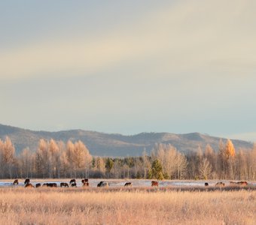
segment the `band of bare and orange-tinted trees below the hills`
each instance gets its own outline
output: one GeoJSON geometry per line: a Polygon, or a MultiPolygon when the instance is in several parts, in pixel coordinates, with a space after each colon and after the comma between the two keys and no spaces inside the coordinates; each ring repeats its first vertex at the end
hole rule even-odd
{"type": "Polygon", "coordinates": [[[156,144],[140,157],[93,157],[81,142],[40,139],[35,152],[16,154],[11,139],[0,139],[0,178],[156,178],[256,180],[256,145],[236,149],[230,139],[218,149],[206,145],[181,154],[156,144]]]}

